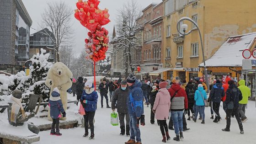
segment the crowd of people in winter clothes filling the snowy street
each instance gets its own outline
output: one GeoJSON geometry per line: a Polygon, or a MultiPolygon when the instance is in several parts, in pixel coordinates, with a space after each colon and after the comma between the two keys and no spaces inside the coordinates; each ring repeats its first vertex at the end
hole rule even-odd
{"type": "MultiPolygon", "coordinates": [[[[242,122],[248,119],[245,116],[245,107],[248,103],[248,97],[251,96],[251,90],[245,86],[245,80],[240,80],[239,85],[237,87],[235,81],[229,77],[225,80],[214,80],[214,84],[210,86],[208,97],[208,87],[204,80],[199,77],[188,82],[186,80],[181,82],[179,77],[173,80],[161,79],[153,82],[152,80],[137,80],[133,74],[130,74],[122,81],[103,79],[98,89],[101,96],[101,108],[103,108],[105,97],[107,108],[111,108],[112,112],[117,109],[120,135],[130,137],[125,144],[141,144],[139,124],[145,124],[144,105],[147,107],[150,105],[150,123],[155,124],[155,119],[157,120],[164,143],[171,139],[168,129],[174,130],[176,134],[173,140],[184,139],[183,131],[189,130],[185,115],[188,116],[188,121],[192,119],[196,123],[199,114],[198,120],[202,120],[201,123],[205,124],[205,107],[208,105],[211,107],[210,118],[214,119],[213,123],[219,123],[222,119],[219,114],[221,101],[226,112],[227,123],[226,128],[222,131],[229,132],[230,118],[236,117],[240,133],[244,134],[242,122]],[[111,107],[108,105],[108,94],[111,107]],[[170,120],[167,125],[168,119],[170,120]]],[[[89,135],[89,123],[91,128],[89,139],[94,139],[93,118],[97,109],[98,95],[94,91],[93,81],[79,77],[75,83],[75,88],[72,85],[72,91],[73,89],[75,89],[77,100],[81,102],[86,113],[84,115],[84,137],[89,135]]],[[[63,112],[62,109],[61,112],[63,112]]]]}

